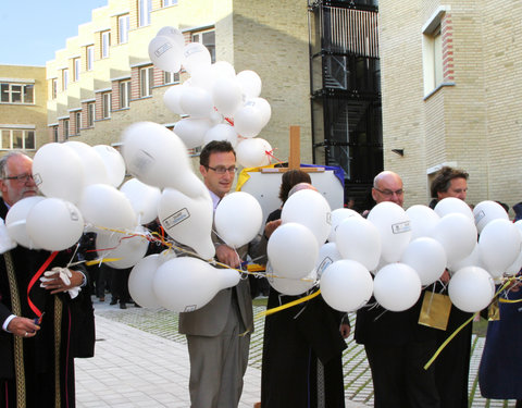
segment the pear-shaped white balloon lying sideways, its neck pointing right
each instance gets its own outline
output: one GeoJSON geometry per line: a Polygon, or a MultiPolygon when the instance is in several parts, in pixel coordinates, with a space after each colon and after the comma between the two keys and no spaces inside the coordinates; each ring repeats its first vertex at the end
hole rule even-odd
{"type": "Polygon", "coordinates": [[[154,274],[152,287],[165,309],[187,312],[200,309],[215,294],[239,283],[239,273],[233,269],[216,269],[191,257],[171,259],[154,274]]]}

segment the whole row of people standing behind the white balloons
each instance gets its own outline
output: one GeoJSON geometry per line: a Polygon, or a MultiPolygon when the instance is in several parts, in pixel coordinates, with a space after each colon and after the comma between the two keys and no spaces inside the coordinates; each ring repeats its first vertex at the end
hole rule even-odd
{"type": "MultiPolygon", "coordinates": [[[[232,145],[206,145],[199,170],[215,210],[234,183],[237,168],[232,145]]],[[[432,183],[431,206],[446,197],[465,200],[468,177],[463,171],[443,168],[432,183]]],[[[279,188],[281,208],[269,215],[262,233],[238,249],[213,234],[216,260],[231,268],[241,268],[248,256],[258,263],[266,262],[266,243],[282,223],[281,209],[301,188],[314,189],[309,174],[300,170],[285,172],[279,188]]],[[[14,152],[0,159],[0,217],[5,219],[15,202],[38,193],[30,158],[14,152]]],[[[390,171],[377,174],[371,195],[375,203],[391,201],[402,207],[401,177],[390,171]]],[[[5,228],[0,228],[1,234],[7,234],[5,228]]],[[[94,356],[91,296],[105,301],[110,293],[111,305],[120,304],[120,308],[133,302],[127,287],[129,269],[112,270],[107,264],[85,268],[78,262],[74,268],[67,267],[75,260],[95,258],[95,234],[85,234],[79,243],[82,250],[60,252],[15,245],[1,248],[0,407],[75,406],[74,358],[94,356]]],[[[355,339],[364,346],[375,407],[468,407],[471,325],[424,369],[443,342],[471,316],[451,306],[445,330],[419,323],[423,297],[431,292],[447,297],[448,280],[446,271],[406,311],[388,311],[374,298],[358,310],[355,339]]],[[[306,295],[314,292],[316,288],[306,295]]],[[[257,293],[244,279],[238,285],[220,290],[204,307],[179,313],[179,332],[187,337],[190,360],[191,407],[238,406],[253,332],[252,295],[257,293]]],[[[268,308],[300,297],[270,288],[268,308]]],[[[518,285],[512,285],[505,297],[519,299],[518,285]]],[[[521,338],[522,325],[515,305],[501,304],[501,319],[489,322],[480,385],[484,396],[518,399],[519,407],[522,384],[518,370],[522,356],[517,341],[521,338]]],[[[344,407],[343,350],[351,329],[346,313],[332,309],[321,295],[268,316],[259,406],[344,407]]]]}

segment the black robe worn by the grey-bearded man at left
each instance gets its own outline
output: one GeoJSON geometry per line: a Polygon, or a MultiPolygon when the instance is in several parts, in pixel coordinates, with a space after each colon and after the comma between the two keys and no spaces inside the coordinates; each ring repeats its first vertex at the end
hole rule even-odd
{"type": "MultiPolygon", "coordinates": [[[[0,217],[5,218],[0,202],[0,217]]],[[[16,394],[15,336],[0,329],[0,407],[15,407],[16,398],[25,398],[27,407],[75,406],[74,357],[92,357],[95,345],[94,309],[88,285],[75,299],[67,293],[50,295],[36,282],[27,296],[30,280],[50,256],[49,251],[29,250],[22,246],[9,251],[12,258],[21,305],[21,316],[36,318],[33,304],[45,312],[36,336],[24,338],[23,368],[25,392],[16,394]],[[59,335],[55,338],[55,331],[59,335]],[[55,353],[58,350],[58,355],[55,353]],[[57,370],[57,361],[58,370],[57,370]],[[58,390],[58,391],[57,391],[58,390]]],[[[65,267],[73,256],[63,250],[46,268],[65,267]]],[[[75,267],[75,269],[83,269],[75,267]]],[[[85,270],[84,270],[85,272],[85,270]]],[[[5,256],[0,257],[0,325],[12,314],[12,294],[8,280],[5,256]]],[[[20,360],[18,360],[18,367],[20,360]]]]}

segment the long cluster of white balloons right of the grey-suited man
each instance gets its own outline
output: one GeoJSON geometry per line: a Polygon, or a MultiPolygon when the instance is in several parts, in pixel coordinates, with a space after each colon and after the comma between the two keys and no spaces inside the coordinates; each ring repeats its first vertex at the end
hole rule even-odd
{"type": "Polygon", "coordinates": [[[406,310],[448,269],[451,301],[474,312],[493,299],[494,279],[522,268],[522,223],[511,223],[495,201],[474,211],[457,198],[434,210],[381,202],[364,219],[344,208],[330,212],[321,194],[302,190],[284,205],[282,220],[269,240],[269,282],[298,295],[319,281],[325,301],[341,311],[372,294],[388,310],[406,310]]]}

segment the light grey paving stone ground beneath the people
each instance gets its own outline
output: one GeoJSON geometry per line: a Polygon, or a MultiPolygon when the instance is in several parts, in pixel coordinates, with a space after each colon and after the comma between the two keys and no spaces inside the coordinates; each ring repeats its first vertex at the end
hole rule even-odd
{"type": "MultiPolygon", "coordinates": [[[[254,307],[254,313],[264,307],[254,307]]],[[[76,399],[90,407],[189,407],[188,351],[177,333],[177,313],[95,300],[96,356],[76,359],[76,399]]],[[[355,321],[355,314],[350,316],[355,321]]],[[[260,400],[264,319],[256,320],[249,368],[240,408],[260,400]]],[[[353,326],[353,325],[352,325],[353,326]]],[[[343,356],[347,408],[373,406],[373,388],[364,348],[352,335],[343,356]]],[[[477,369],[483,337],[473,337],[470,372],[470,407],[514,407],[514,401],[488,400],[480,395],[477,369]]]]}

